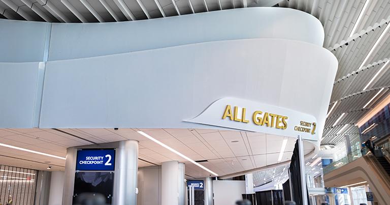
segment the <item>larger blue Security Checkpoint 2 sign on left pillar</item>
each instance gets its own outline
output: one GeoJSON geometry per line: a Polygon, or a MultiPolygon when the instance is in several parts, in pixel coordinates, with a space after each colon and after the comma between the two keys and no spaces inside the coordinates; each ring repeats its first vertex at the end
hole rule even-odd
{"type": "Polygon", "coordinates": [[[78,150],[76,170],[114,171],[115,150],[78,150]]]}

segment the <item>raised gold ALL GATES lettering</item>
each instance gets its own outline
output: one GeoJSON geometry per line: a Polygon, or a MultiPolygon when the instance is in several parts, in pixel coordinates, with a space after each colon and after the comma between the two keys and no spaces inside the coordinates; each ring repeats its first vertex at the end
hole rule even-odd
{"type": "MultiPolygon", "coordinates": [[[[241,110],[241,116],[238,115],[238,106],[234,106],[234,112],[232,112],[232,106],[226,105],[225,111],[223,112],[222,119],[230,119],[232,121],[249,123],[249,120],[246,120],[246,108],[243,107],[241,110]]],[[[258,126],[267,126],[275,127],[276,129],[286,129],[287,128],[287,116],[280,114],[274,114],[269,112],[264,112],[256,110],[252,113],[252,121],[255,125],[258,126]]]]}

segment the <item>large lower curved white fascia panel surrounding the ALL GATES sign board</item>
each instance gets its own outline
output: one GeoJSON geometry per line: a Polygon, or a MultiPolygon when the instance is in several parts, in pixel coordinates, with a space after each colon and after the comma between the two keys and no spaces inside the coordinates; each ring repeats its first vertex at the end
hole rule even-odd
{"type": "Polygon", "coordinates": [[[40,127],[207,128],[183,120],[235,97],[313,115],[320,136],[336,69],[328,50],[278,39],[48,62],[40,127]]]}

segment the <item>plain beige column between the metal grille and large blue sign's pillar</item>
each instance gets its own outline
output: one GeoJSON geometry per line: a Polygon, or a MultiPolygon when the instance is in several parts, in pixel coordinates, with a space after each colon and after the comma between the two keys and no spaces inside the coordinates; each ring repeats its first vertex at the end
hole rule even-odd
{"type": "Polygon", "coordinates": [[[52,171],[50,180],[49,205],[61,205],[65,173],[52,171]]]}

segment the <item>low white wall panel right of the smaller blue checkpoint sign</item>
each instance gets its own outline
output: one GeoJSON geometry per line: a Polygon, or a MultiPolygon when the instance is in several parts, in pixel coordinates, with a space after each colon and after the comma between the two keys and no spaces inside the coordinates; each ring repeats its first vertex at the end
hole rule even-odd
{"type": "Polygon", "coordinates": [[[236,201],[242,200],[245,181],[214,180],[213,189],[215,205],[234,205],[236,201]]]}

